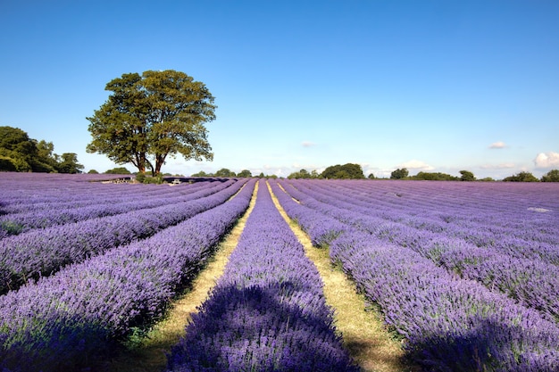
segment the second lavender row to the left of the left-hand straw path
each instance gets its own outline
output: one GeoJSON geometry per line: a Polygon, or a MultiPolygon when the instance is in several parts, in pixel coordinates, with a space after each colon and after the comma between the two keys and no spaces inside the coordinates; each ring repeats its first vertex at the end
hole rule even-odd
{"type": "Polygon", "coordinates": [[[155,199],[163,204],[158,207],[4,237],[0,239],[0,294],[211,209],[238,192],[243,182],[216,182],[197,187],[179,199],[171,198],[175,203],[168,204],[168,196],[163,195],[155,199]]]}

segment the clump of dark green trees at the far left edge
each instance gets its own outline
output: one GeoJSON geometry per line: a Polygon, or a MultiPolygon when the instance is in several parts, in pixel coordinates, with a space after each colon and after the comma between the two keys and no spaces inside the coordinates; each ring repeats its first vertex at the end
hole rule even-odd
{"type": "Polygon", "coordinates": [[[76,153],[54,153],[52,142],[29,138],[20,128],[0,127],[0,171],[81,173],[76,153]]]}

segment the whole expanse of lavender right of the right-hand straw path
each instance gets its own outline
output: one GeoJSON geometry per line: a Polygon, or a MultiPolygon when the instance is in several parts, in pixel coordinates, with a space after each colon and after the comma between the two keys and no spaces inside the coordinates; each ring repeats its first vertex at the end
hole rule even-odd
{"type": "Polygon", "coordinates": [[[426,370],[559,370],[559,187],[280,180],[426,370]]]}

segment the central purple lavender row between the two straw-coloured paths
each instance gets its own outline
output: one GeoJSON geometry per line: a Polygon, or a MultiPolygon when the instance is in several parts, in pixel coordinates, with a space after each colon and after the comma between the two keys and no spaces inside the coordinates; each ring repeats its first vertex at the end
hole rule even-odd
{"type": "Polygon", "coordinates": [[[169,371],[357,371],[332,326],[321,278],[260,181],[254,210],[169,371]]]}

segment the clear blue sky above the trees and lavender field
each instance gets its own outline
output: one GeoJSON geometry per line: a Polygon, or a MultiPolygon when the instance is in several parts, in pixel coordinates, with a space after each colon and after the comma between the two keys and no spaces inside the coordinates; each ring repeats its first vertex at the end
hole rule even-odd
{"type": "Polygon", "coordinates": [[[0,0],[0,126],[104,171],[85,150],[104,86],[171,69],[218,109],[213,161],[163,171],[540,177],[559,169],[557,20],[539,0],[0,0]]]}

